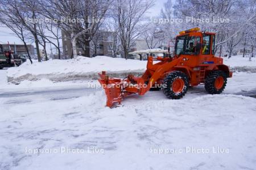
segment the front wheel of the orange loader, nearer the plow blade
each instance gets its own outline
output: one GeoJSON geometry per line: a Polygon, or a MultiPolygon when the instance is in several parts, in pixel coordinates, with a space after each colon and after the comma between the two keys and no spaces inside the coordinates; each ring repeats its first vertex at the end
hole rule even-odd
{"type": "Polygon", "coordinates": [[[188,86],[188,76],[181,71],[173,71],[163,80],[163,93],[169,99],[180,99],[187,93],[188,86]]]}

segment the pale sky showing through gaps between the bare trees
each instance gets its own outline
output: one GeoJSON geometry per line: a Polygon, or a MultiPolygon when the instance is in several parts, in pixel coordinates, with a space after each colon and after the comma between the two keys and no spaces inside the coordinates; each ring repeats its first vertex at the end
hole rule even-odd
{"type": "MultiPolygon", "coordinates": [[[[155,6],[151,8],[149,12],[147,12],[148,16],[158,16],[160,14],[161,8],[163,7],[163,3],[166,2],[166,0],[156,0],[155,6]]],[[[10,44],[23,44],[23,42],[14,35],[13,32],[10,31],[9,28],[6,28],[3,25],[0,25],[0,44],[7,44],[7,41],[10,42],[10,44]]],[[[28,44],[31,44],[31,42],[28,42],[28,44]]],[[[34,45],[34,43],[32,43],[34,45]]],[[[34,45],[35,47],[35,45],[34,45]]],[[[42,48],[40,46],[40,48],[42,48]]],[[[47,46],[47,51],[49,51],[49,45],[47,46]]],[[[53,52],[54,53],[54,52],[53,52]]]]}

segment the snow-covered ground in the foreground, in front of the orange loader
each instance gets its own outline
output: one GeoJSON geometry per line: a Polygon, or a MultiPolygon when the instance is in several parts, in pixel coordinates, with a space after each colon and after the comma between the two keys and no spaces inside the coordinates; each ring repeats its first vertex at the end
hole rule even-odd
{"type": "Polygon", "coordinates": [[[254,169],[256,99],[201,88],[114,109],[101,90],[0,95],[0,169],[254,169]]]}

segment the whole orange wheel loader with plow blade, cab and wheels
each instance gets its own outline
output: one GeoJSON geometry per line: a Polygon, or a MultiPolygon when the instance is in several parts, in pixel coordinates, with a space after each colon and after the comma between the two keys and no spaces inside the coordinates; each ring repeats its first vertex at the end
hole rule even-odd
{"type": "Polygon", "coordinates": [[[232,77],[223,59],[214,57],[215,33],[192,28],[176,36],[174,56],[148,57],[147,69],[141,77],[127,75],[124,79],[109,78],[99,73],[107,97],[106,106],[121,104],[127,95],[144,95],[149,90],[163,90],[169,99],[180,99],[189,86],[204,83],[209,94],[220,94],[232,77]],[[153,61],[158,61],[153,63],[153,61]]]}

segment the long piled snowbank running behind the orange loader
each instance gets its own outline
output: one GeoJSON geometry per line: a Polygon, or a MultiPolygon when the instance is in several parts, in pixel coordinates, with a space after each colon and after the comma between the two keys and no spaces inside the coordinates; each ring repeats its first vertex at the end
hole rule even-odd
{"type": "MultiPolygon", "coordinates": [[[[97,79],[98,72],[108,71],[110,76],[124,77],[127,74],[140,75],[146,69],[147,61],[134,59],[112,58],[97,56],[94,58],[78,57],[77,59],[50,60],[23,63],[19,67],[7,70],[8,82],[19,83],[23,80],[49,79],[56,82],[69,80],[97,79]]],[[[256,59],[233,56],[224,58],[224,63],[232,67],[233,71],[256,72],[256,59]]]]}

